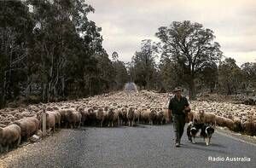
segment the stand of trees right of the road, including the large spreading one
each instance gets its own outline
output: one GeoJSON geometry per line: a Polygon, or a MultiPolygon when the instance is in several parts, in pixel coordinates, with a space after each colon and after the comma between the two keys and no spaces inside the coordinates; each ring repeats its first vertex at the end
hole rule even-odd
{"type": "Polygon", "coordinates": [[[172,91],[179,85],[192,99],[201,91],[256,94],[256,60],[238,67],[234,59],[224,57],[212,30],[187,20],[174,21],[161,26],[155,36],[160,43],[143,40],[129,65],[139,88],[172,91]]]}

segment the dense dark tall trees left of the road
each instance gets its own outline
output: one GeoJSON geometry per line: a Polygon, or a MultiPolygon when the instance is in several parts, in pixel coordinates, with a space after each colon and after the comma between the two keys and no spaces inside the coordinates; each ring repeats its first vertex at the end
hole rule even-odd
{"type": "Polygon", "coordinates": [[[91,12],[84,0],[0,1],[0,108],[122,89],[125,64],[108,58],[91,12]]]}

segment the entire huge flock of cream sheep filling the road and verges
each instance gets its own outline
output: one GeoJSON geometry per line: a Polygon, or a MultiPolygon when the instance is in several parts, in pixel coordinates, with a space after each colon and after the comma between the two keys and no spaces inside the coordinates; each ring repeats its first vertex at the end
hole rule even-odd
{"type": "MultiPolygon", "coordinates": [[[[31,136],[42,137],[42,116],[46,114],[46,129],[93,126],[163,125],[167,120],[170,95],[152,91],[126,92],[93,96],[79,101],[63,101],[30,105],[26,108],[5,108],[0,111],[0,150],[9,151],[31,136]]],[[[192,111],[187,122],[198,119],[204,123],[226,126],[230,130],[253,136],[256,131],[255,107],[219,104],[220,102],[191,101],[192,111]],[[233,109],[233,107],[236,108],[233,109]],[[240,111],[237,111],[240,109],[240,111]]]]}

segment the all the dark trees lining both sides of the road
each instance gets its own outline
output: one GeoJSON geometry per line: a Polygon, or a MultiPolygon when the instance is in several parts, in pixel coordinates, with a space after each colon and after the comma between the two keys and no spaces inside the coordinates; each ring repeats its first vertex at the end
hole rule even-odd
{"type": "Polygon", "coordinates": [[[116,52],[111,61],[92,12],[84,0],[0,1],[0,108],[94,96],[128,80],[163,92],[180,85],[192,99],[256,88],[255,62],[222,59],[212,30],[187,20],[161,26],[160,43],[143,40],[127,65],[116,52]]]}

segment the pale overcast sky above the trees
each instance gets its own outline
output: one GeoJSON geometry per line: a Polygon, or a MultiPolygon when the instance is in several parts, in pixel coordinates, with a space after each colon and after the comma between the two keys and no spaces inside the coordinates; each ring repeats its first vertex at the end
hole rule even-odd
{"type": "Polygon", "coordinates": [[[212,29],[225,56],[238,65],[256,61],[255,0],[87,0],[96,9],[89,19],[102,27],[108,55],[131,61],[143,39],[154,41],[160,26],[190,20],[212,29]]]}

